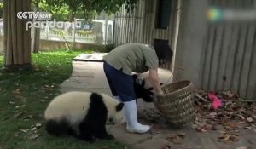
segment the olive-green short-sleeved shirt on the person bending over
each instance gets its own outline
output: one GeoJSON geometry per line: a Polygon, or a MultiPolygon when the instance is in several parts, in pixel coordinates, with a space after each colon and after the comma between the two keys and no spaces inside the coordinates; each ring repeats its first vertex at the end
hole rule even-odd
{"type": "Polygon", "coordinates": [[[143,73],[150,68],[158,68],[158,57],[154,48],[140,43],[121,45],[105,55],[103,60],[128,75],[131,72],[143,73]]]}

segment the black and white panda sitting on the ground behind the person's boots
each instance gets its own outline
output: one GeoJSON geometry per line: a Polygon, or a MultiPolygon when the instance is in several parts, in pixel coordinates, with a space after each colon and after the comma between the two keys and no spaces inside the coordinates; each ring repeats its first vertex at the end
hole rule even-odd
{"type": "Polygon", "coordinates": [[[46,108],[46,131],[50,135],[73,135],[90,142],[95,138],[113,139],[106,131],[106,123],[121,121],[123,106],[109,95],[67,92],[56,96],[46,108]]]}

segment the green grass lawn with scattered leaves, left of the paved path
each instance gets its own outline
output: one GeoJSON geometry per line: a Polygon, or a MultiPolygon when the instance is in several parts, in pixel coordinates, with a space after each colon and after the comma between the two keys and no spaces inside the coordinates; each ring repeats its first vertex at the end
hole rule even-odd
{"type": "Polygon", "coordinates": [[[44,130],[44,109],[49,100],[60,94],[59,84],[70,76],[71,61],[81,53],[32,54],[32,71],[0,72],[0,146],[3,149],[124,148],[114,140],[89,144],[72,137],[54,137],[44,130]]]}

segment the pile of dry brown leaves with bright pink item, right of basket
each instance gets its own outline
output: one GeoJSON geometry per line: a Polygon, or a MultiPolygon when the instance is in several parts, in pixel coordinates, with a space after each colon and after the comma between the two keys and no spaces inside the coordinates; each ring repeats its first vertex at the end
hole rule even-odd
{"type": "Polygon", "coordinates": [[[256,133],[256,102],[243,100],[231,91],[210,93],[197,90],[195,111],[196,119],[192,127],[200,133],[218,131],[221,134],[218,140],[221,142],[238,141],[239,129],[251,129],[256,133]],[[211,99],[210,94],[216,99],[211,99]],[[217,129],[219,125],[223,126],[224,130],[217,129]]]}

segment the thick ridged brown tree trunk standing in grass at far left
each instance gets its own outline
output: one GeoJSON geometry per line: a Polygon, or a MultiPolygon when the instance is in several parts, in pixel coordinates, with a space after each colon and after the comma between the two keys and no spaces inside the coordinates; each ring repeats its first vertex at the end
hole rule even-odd
{"type": "Polygon", "coordinates": [[[3,0],[4,61],[9,70],[31,67],[31,30],[25,20],[17,20],[17,12],[30,11],[31,0],[3,0]]]}

